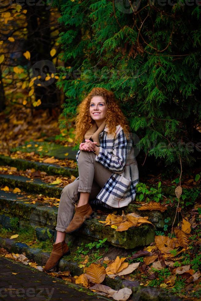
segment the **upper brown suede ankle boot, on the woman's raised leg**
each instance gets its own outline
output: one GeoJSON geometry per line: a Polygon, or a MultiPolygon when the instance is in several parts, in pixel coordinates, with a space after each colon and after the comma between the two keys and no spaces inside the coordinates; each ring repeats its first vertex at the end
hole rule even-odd
{"type": "Polygon", "coordinates": [[[88,204],[77,207],[76,213],[68,225],[68,227],[65,229],[65,233],[73,233],[80,229],[86,219],[89,219],[93,216],[93,210],[91,206],[88,204]]]}

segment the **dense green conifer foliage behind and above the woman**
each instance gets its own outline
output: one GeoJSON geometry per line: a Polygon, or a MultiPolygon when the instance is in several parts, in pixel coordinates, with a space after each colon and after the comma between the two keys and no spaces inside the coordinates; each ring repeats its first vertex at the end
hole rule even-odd
{"type": "Polygon", "coordinates": [[[93,87],[120,100],[138,148],[166,164],[201,151],[201,2],[71,0],[59,6],[64,115],[93,87]],[[65,76],[64,76],[65,75],[65,76]]]}

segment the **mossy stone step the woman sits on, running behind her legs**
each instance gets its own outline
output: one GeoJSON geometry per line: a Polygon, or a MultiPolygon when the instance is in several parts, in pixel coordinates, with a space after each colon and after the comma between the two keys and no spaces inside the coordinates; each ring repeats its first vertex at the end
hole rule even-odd
{"type": "MultiPolygon", "coordinates": [[[[58,208],[56,207],[43,206],[37,202],[35,204],[26,204],[26,200],[20,200],[20,194],[16,195],[11,192],[1,191],[0,209],[0,220],[4,226],[6,222],[7,226],[9,225],[9,219],[12,221],[13,218],[18,217],[19,224],[25,225],[26,222],[28,222],[32,227],[41,228],[41,230],[44,231],[45,228],[48,228],[50,235],[55,235],[58,212],[58,208]]],[[[111,245],[125,249],[148,245],[154,241],[156,229],[154,226],[144,224],[134,229],[117,232],[115,229],[99,223],[99,220],[105,220],[106,216],[107,214],[101,217],[97,216],[95,212],[94,218],[87,220],[85,225],[78,232],[68,234],[67,236],[71,241],[74,240],[76,236],[84,236],[92,240],[107,238],[108,243],[111,245]]],[[[36,231],[38,231],[38,233],[41,232],[40,229],[36,231]]]]}

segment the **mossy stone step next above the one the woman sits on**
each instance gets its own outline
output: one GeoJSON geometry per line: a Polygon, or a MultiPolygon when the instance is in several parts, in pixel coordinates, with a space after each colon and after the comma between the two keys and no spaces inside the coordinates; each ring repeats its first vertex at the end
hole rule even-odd
{"type": "Polygon", "coordinates": [[[12,188],[18,187],[22,191],[30,193],[34,191],[34,193],[54,196],[55,198],[60,198],[63,189],[56,184],[47,184],[38,178],[32,181],[30,178],[15,176],[13,174],[0,174],[0,185],[6,185],[12,188]]]}

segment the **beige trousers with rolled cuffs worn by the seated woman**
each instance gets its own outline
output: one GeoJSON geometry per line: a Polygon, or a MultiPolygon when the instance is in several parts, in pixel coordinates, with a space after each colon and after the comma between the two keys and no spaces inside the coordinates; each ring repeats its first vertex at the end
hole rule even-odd
{"type": "Polygon", "coordinates": [[[80,192],[89,192],[89,200],[96,199],[112,172],[95,160],[96,154],[91,151],[81,151],[78,156],[79,179],[66,185],[61,191],[57,226],[55,230],[65,232],[73,219],[76,202],[80,192]]]}

